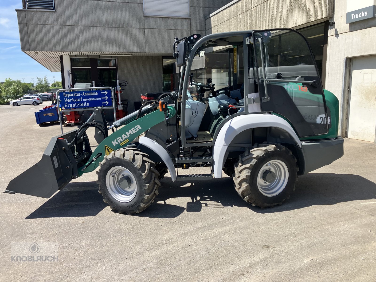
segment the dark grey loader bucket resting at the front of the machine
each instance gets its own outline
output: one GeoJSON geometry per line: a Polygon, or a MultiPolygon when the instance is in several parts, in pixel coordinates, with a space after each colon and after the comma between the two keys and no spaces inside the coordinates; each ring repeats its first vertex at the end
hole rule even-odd
{"type": "Polygon", "coordinates": [[[53,137],[42,159],[11,180],[5,193],[49,198],[76,178],[77,163],[72,152],[73,145],[69,144],[76,131],[77,129],[53,137]]]}

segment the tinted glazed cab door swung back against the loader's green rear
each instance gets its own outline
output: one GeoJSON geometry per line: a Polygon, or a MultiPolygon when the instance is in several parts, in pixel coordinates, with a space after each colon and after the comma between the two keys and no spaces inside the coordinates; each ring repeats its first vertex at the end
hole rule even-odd
{"type": "Polygon", "coordinates": [[[300,137],[326,134],[331,125],[326,123],[320,76],[305,38],[293,30],[264,30],[253,33],[253,42],[249,80],[256,82],[261,97],[268,94],[261,110],[284,116],[300,137]]]}

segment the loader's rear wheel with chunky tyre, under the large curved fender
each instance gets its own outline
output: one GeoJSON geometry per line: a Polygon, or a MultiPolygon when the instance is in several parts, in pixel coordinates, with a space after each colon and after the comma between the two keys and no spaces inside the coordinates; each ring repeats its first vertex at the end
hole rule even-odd
{"type": "Polygon", "coordinates": [[[235,164],[235,190],[246,202],[260,208],[273,207],[295,190],[298,167],[290,150],[279,144],[247,150],[235,164]]]}

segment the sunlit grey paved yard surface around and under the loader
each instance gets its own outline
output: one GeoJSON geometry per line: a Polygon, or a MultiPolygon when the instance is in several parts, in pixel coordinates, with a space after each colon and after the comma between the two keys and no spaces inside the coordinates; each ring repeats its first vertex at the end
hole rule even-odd
{"type": "MultiPolygon", "coordinates": [[[[0,190],[59,134],[35,123],[45,105],[0,107],[0,190]]],[[[110,210],[94,172],[50,199],[0,193],[0,281],[376,281],[375,171],[376,146],[346,139],[343,158],[272,209],[244,202],[230,177],[167,175],[133,216],[110,210]],[[55,244],[58,261],[12,262],[18,242],[55,244]]]]}

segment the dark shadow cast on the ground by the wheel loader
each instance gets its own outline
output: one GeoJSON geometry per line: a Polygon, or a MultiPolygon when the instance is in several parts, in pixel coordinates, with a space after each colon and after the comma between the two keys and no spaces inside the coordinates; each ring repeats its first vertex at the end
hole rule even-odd
{"type": "MultiPolygon", "coordinates": [[[[271,213],[301,209],[314,205],[335,205],[354,200],[371,200],[376,196],[376,184],[354,174],[309,173],[300,176],[289,200],[274,208],[253,207],[239,197],[230,177],[202,180],[197,183],[172,182],[170,177],[161,181],[159,195],[139,217],[174,218],[184,211],[201,212],[206,208],[246,207],[253,212],[271,213]],[[188,184],[188,185],[187,185],[188,184]],[[186,186],[185,186],[186,185],[186,186]],[[186,207],[171,205],[169,199],[188,198],[186,207]]],[[[70,183],[36,209],[29,218],[88,217],[108,207],[92,182],[70,183]]]]}

